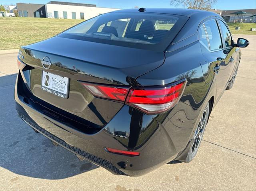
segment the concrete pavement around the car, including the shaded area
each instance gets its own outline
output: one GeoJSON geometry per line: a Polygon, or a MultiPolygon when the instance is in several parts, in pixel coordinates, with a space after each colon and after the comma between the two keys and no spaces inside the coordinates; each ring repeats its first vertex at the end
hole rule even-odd
{"type": "Polygon", "coordinates": [[[213,110],[196,158],[142,177],[116,176],[79,161],[36,134],[16,114],[17,53],[0,54],[0,190],[256,190],[256,35],[234,87],[213,110]]]}

